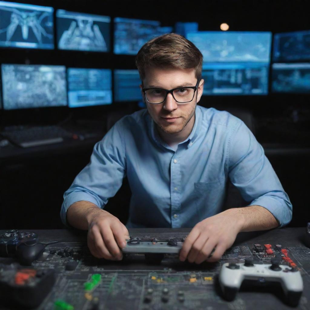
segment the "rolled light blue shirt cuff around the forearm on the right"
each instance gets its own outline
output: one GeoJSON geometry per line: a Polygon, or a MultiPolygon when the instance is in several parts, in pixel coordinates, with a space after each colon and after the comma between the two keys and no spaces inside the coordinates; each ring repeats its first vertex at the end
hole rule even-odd
{"type": "Polygon", "coordinates": [[[292,220],[292,205],[271,196],[261,196],[253,200],[249,206],[261,206],[267,209],[278,221],[279,228],[290,223],[292,220]]]}

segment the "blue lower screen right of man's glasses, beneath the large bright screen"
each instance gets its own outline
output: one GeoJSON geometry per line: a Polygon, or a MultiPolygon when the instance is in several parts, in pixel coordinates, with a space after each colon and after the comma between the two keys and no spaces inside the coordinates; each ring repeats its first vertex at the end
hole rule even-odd
{"type": "Polygon", "coordinates": [[[267,95],[268,68],[257,63],[205,66],[203,95],[267,95]]]}

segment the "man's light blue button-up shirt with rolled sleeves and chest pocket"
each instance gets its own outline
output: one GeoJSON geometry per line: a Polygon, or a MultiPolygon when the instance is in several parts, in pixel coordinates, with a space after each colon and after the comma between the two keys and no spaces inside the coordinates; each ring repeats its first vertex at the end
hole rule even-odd
{"type": "Polygon", "coordinates": [[[64,193],[63,223],[76,201],[104,208],[126,175],[132,192],[127,228],[191,228],[222,211],[228,178],[249,205],[269,210],[280,226],[292,218],[262,146],[226,111],[197,106],[191,134],[174,148],[160,138],[146,109],[123,117],[95,144],[90,163],[64,193]]]}

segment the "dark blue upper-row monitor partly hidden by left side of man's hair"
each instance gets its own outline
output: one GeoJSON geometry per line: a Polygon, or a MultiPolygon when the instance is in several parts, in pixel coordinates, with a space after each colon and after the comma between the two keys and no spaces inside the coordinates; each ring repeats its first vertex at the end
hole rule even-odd
{"type": "Polygon", "coordinates": [[[142,45],[153,37],[172,32],[157,20],[114,18],[114,54],[136,55],[142,45]]]}

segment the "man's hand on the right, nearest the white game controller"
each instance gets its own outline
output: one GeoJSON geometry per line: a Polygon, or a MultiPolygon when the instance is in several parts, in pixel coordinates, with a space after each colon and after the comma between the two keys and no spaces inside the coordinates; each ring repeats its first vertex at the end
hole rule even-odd
{"type": "Polygon", "coordinates": [[[206,218],[193,227],[180,251],[181,261],[188,259],[190,263],[200,264],[203,261],[215,262],[221,258],[242,228],[243,217],[232,214],[230,210],[206,218]]]}

